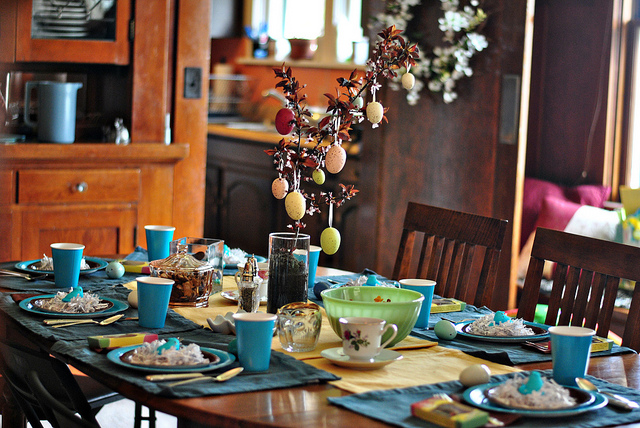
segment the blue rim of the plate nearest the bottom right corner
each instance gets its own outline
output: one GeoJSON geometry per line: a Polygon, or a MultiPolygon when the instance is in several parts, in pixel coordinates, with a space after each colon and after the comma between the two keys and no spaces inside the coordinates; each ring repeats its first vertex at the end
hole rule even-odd
{"type": "MultiPolygon", "coordinates": [[[[498,385],[500,385],[500,383],[485,383],[482,385],[472,386],[471,388],[468,388],[462,394],[462,396],[464,397],[467,403],[484,410],[489,410],[493,412],[503,412],[503,413],[516,413],[523,416],[532,416],[537,418],[560,418],[563,416],[572,416],[580,413],[590,412],[592,410],[597,410],[601,407],[606,406],[609,401],[604,396],[602,396],[597,392],[581,390],[581,392],[585,392],[589,395],[592,395],[595,398],[595,400],[591,404],[578,405],[575,407],[571,407],[569,409],[527,410],[527,409],[519,409],[519,408],[518,409],[509,408],[509,407],[503,407],[503,406],[491,403],[491,401],[489,401],[489,398],[485,395],[486,390],[496,387],[498,385]]],[[[576,389],[571,387],[565,387],[565,388],[576,389]]]]}

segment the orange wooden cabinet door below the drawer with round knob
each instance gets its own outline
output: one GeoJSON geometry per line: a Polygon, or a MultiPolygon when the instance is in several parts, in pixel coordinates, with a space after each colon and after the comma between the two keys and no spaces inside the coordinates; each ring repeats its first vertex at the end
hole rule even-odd
{"type": "Polygon", "coordinates": [[[50,255],[54,242],[85,245],[86,255],[126,254],[134,249],[134,204],[41,205],[22,210],[21,259],[50,255]]]}

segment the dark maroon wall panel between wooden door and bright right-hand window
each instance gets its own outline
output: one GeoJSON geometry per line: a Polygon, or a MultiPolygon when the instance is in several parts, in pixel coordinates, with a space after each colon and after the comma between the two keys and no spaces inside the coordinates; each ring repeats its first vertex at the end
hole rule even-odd
{"type": "Polygon", "coordinates": [[[567,185],[602,181],[615,3],[536,1],[528,176],[567,185]]]}

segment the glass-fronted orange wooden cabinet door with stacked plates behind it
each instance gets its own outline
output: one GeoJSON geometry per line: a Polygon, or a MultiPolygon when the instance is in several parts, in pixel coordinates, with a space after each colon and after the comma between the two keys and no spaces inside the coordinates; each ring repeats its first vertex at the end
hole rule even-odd
{"type": "MultiPolygon", "coordinates": [[[[16,19],[16,61],[118,64],[129,63],[131,2],[115,0],[113,12],[104,16],[89,11],[86,4],[66,2],[58,13],[48,2],[21,0],[16,19]],[[84,8],[85,12],[79,11],[84,8]],[[110,16],[109,14],[114,16],[110,16]],[[100,35],[96,24],[106,25],[100,35]]],[[[97,4],[97,8],[101,3],[97,4]]]]}

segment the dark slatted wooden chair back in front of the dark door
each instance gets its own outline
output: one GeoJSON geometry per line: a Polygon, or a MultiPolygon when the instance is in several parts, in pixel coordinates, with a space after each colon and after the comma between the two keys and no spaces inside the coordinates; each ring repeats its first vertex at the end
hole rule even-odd
{"type": "Polygon", "coordinates": [[[506,220],[409,202],[392,279],[431,279],[439,296],[491,306],[506,230],[506,220]]]}

